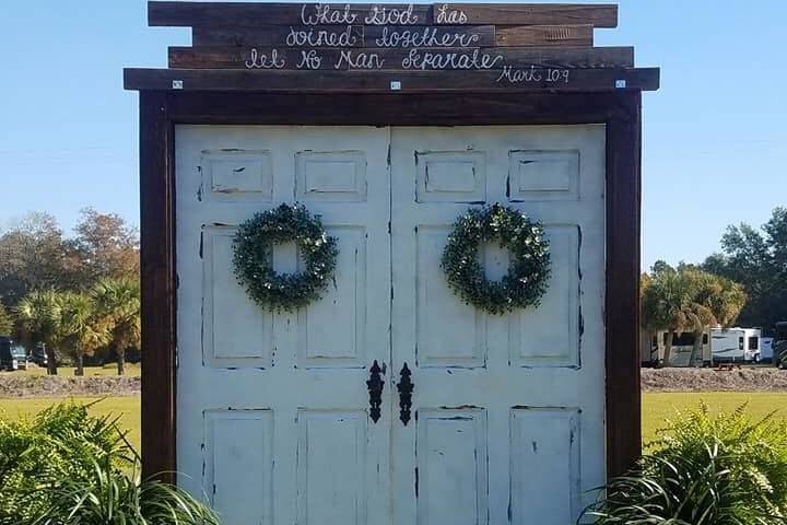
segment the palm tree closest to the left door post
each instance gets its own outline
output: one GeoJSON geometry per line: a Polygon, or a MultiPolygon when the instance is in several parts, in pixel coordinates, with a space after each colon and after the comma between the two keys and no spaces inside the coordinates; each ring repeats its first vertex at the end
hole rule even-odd
{"type": "Polygon", "coordinates": [[[92,296],[109,327],[110,343],[117,353],[118,375],[124,375],[126,350],[140,345],[139,280],[130,277],[102,280],[94,287],[92,296]]]}

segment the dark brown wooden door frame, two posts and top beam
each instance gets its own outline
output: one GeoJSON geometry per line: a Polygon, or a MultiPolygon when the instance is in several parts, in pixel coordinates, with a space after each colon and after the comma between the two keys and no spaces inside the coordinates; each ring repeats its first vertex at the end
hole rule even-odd
{"type": "Polygon", "coordinates": [[[140,92],[142,468],[174,480],[177,272],[175,125],[579,125],[607,127],[608,477],[639,456],[639,91],[537,94],[140,92]]]}

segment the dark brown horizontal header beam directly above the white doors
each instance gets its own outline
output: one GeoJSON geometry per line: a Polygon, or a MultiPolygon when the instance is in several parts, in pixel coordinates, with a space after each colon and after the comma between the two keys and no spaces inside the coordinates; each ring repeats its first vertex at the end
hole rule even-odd
{"type": "Polygon", "coordinates": [[[294,94],[171,93],[168,116],[179,124],[486,126],[603,124],[619,113],[620,92],[294,94]],[[457,112],[457,107],[461,112],[457,112]]]}

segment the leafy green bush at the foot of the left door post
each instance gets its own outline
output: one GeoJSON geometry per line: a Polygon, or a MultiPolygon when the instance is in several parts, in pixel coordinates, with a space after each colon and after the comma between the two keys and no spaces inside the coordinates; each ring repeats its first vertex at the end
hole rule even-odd
{"type": "Polygon", "coordinates": [[[140,479],[139,456],[90,406],[0,418],[0,525],[218,525],[187,492],[140,479]]]}

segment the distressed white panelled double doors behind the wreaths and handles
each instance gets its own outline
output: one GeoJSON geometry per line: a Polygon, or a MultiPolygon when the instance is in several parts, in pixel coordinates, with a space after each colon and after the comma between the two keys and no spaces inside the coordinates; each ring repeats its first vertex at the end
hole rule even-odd
{"type": "MultiPolygon", "coordinates": [[[[603,126],[178,126],[175,139],[180,485],[227,525],[576,520],[604,479],[603,126]],[[280,202],[339,241],[329,290],[293,314],[256,306],[232,266],[236,226],[280,202]],[[484,202],[545,224],[540,307],[490,316],[447,289],[450,225],[484,202]]],[[[505,273],[506,252],[481,256],[505,273]]],[[[273,259],[298,270],[294,245],[273,259]]]]}

